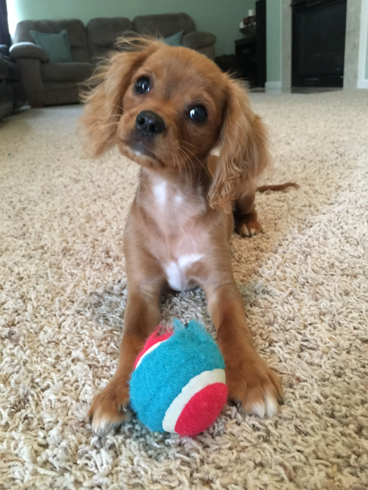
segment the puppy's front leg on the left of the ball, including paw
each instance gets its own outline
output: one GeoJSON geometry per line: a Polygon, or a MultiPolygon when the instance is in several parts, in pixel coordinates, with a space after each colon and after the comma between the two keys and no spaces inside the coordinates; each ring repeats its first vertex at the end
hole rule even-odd
{"type": "Polygon", "coordinates": [[[107,386],[94,397],[88,413],[92,430],[99,436],[130,417],[128,381],[137,354],[160,321],[160,290],[158,279],[129,285],[118,368],[107,386]]]}

